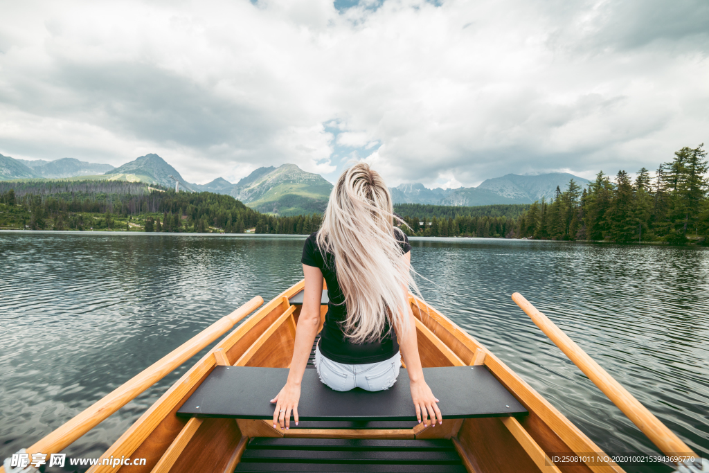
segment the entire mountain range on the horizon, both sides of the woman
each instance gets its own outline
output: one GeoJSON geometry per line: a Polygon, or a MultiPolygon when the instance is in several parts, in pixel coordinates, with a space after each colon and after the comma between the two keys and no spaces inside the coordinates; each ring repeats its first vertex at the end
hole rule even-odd
{"type": "MultiPolygon", "coordinates": [[[[186,191],[210,191],[228,194],[257,211],[283,216],[322,212],[327,206],[330,184],[319,174],[305,172],[296,165],[259,167],[236,184],[222,177],[208,184],[193,184],[177,172],[162,157],[148,154],[120,167],[99,165],[62,158],[55,161],[15,160],[0,155],[0,180],[6,179],[109,179],[148,182],[163,187],[174,186],[186,191]],[[104,174],[99,174],[103,172],[104,174]]],[[[588,185],[582,177],[564,172],[521,176],[507,174],[487,179],[478,187],[458,189],[428,189],[423,184],[401,184],[391,188],[395,204],[432,204],[446,206],[481,206],[493,204],[531,204],[545,198],[554,199],[557,186],[562,191],[574,179],[581,187],[588,185]]]]}

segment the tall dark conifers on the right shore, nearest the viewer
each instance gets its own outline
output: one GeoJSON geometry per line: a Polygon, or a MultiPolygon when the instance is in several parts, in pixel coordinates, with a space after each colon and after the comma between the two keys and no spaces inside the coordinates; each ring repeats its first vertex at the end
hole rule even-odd
{"type": "MultiPolygon", "coordinates": [[[[709,165],[703,144],[682,148],[650,179],[644,167],[635,181],[621,170],[613,182],[599,172],[588,189],[573,180],[557,187],[552,202],[537,202],[518,219],[515,236],[548,240],[688,242],[709,233],[709,165]]],[[[706,241],[706,240],[705,240],[706,241]]]]}

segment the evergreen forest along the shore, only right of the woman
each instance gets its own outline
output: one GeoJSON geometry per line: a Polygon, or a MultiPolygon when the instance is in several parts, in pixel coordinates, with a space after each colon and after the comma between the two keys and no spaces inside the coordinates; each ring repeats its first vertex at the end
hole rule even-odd
{"type": "Polygon", "coordinates": [[[586,189],[572,179],[564,191],[557,187],[552,201],[537,201],[518,215],[502,208],[499,216],[463,208],[452,214],[455,207],[437,211],[435,206],[411,206],[411,213],[400,215],[413,230],[406,229],[410,235],[706,244],[706,156],[703,145],[682,148],[653,179],[644,167],[634,180],[623,170],[614,179],[599,172],[586,189]]]}

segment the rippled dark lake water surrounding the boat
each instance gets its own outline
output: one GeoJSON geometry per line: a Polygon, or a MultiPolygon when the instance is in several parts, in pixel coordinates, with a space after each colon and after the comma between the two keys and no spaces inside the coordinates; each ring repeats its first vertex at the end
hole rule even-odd
{"type": "MultiPolygon", "coordinates": [[[[303,240],[0,232],[0,458],[50,433],[253,296],[269,300],[297,282],[303,240]]],[[[511,301],[513,292],[546,313],[696,452],[709,455],[709,250],[463,238],[411,244],[426,301],[603,450],[654,448],[511,301]]],[[[101,455],[194,361],[67,454],[101,455]]]]}

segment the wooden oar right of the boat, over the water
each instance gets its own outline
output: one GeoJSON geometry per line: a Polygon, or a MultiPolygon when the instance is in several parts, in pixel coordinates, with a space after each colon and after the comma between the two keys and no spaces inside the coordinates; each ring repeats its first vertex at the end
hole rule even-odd
{"type": "Polygon", "coordinates": [[[574,340],[566,336],[566,333],[557,325],[554,325],[547,316],[538,311],[535,306],[532,306],[530,301],[527,301],[522,294],[515,292],[515,294],[512,294],[512,300],[525,311],[527,316],[532,318],[537,327],[542,329],[542,332],[557,347],[561,348],[562,352],[586,374],[588,379],[591,379],[593,384],[596,384],[598,389],[601,389],[603,394],[608,396],[608,399],[613,401],[613,404],[618,406],[620,411],[630,418],[637,425],[637,428],[647,435],[647,438],[652,440],[652,443],[657,445],[661,452],[668,456],[679,455],[699,458],[686,443],[680,440],[664,423],[661,423],[645,406],[640,404],[640,401],[635,399],[605,369],[593,361],[584,350],[581,350],[581,347],[576,345],[574,340]]]}

